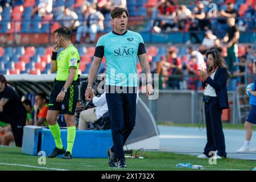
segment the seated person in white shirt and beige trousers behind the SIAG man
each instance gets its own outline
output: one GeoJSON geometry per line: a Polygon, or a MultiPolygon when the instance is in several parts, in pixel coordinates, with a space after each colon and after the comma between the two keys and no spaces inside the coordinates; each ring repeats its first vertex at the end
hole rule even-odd
{"type": "Polygon", "coordinates": [[[93,94],[92,102],[96,107],[86,109],[80,113],[79,130],[86,130],[89,122],[94,123],[108,111],[105,92],[102,93],[100,97],[96,97],[95,94],[93,94]]]}

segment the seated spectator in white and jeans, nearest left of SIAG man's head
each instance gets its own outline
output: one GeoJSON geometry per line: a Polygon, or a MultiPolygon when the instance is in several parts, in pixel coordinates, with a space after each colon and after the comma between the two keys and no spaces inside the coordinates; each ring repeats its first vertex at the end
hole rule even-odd
{"type": "Polygon", "coordinates": [[[104,30],[104,16],[100,11],[96,10],[95,5],[88,6],[85,14],[85,22],[82,26],[77,28],[76,43],[80,43],[81,36],[85,36],[88,32],[90,35],[90,43],[94,43],[98,31],[104,30]]]}

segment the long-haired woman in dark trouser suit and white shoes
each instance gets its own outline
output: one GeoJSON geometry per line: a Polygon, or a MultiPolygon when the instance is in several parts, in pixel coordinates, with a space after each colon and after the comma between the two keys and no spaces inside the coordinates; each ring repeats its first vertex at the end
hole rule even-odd
{"type": "Polygon", "coordinates": [[[220,53],[213,49],[207,51],[208,71],[201,71],[204,90],[204,109],[207,125],[207,144],[204,153],[197,158],[209,158],[210,151],[217,154],[214,158],[226,158],[225,138],[222,131],[221,115],[222,109],[228,108],[228,92],[226,82],[230,77],[228,68],[225,65],[220,53]]]}

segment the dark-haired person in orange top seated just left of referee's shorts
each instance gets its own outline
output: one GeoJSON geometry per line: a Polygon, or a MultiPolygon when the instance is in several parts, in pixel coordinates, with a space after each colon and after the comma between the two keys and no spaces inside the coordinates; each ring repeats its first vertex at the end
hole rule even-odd
{"type": "Polygon", "coordinates": [[[46,115],[48,111],[47,98],[44,93],[37,93],[34,105],[34,122],[36,126],[48,126],[46,115]]]}

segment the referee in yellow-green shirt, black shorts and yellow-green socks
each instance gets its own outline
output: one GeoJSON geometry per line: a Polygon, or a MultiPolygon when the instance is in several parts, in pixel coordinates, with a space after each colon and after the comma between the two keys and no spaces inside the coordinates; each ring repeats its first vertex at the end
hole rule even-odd
{"type": "Polygon", "coordinates": [[[49,97],[47,122],[52,136],[55,139],[56,147],[48,158],[55,158],[64,154],[63,159],[72,159],[72,148],[76,137],[76,126],[74,114],[76,102],[79,97],[77,84],[79,69],[79,53],[71,43],[71,30],[67,27],[60,27],[54,31],[55,45],[53,46],[51,73],[56,74],[55,85],[49,97]],[[57,51],[63,47],[63,51],[57,57],[57,51]],[[68,145],[65,151],[60,137],[60,127],[56,122],[57,116],[64,114],[68,130],[68,145]]]}

